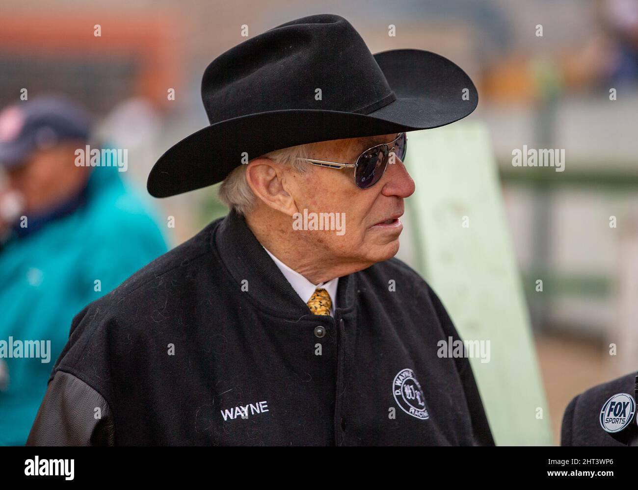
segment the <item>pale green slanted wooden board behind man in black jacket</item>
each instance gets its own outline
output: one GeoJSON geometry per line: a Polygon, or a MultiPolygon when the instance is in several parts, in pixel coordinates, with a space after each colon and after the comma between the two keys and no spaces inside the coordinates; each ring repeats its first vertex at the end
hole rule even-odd
{"type": "Polygon", "coordinates": [[[408,140],[406,166],[417,186],[406,200],[415,267],[461,338],[490,341],[489,362],[470,362],[494,440],[553,445],[489,133],[463,121],[408,140]]]}

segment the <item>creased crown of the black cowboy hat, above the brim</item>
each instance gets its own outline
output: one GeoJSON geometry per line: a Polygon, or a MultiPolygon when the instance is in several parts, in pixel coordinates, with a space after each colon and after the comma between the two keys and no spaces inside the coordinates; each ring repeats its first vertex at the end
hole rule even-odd
{"type": "Polygon", "coordinates": [[[394,100],[366,43],[338,15],[304,17],[246,40],[202,78],[211,124],[282,108],[368,114],[394,100]]]}

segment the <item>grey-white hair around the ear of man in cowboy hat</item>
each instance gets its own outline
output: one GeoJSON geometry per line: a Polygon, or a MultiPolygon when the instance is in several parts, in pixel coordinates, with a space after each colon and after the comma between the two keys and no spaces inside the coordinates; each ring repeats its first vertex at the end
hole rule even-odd
{"type": "MultiPolygon", "coordinates": [[[[310,163],[297,160],[297,158],[309,158],[311,145],[312,144],[291,146],[281,150],[271,151],[259,158],[269,158],[281,165],[288,165],[297,172],[306,172],[310,163]]],[[[239,167],[228,174],[226,179],[221,182],[217,196],[222,204],[231,210],[239,212],[239,214],[246,214],[255,209],[256,197],[248,185],[248,181],[246,181],[246,165],[247,164],[239,165],[239,167]]]]}

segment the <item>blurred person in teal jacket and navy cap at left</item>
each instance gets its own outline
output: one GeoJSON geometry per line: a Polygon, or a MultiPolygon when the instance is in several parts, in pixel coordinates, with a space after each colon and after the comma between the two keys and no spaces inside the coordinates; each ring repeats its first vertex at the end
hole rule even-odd
{"type": "Polygon", "coordinates": [[[77,164],[92,123],[60,96],[0,112],[3,445],[26,442],[75,313],[167,251],[121,167],[77,164]]]}

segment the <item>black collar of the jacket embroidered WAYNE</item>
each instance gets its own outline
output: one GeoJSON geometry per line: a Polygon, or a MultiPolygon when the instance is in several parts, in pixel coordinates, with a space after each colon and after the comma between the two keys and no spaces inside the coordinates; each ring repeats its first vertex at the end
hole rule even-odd
{"type": "MultiPolygon", "coordinates": [[[[214,231],[212,241],[226,272],[239,288],[248,286],[242,294],[251,297],[261,309],[295,320],[316,317],[256,239],[241,214],[235,211],[228,213],[214,231]]],[[[335,315],[351,311],[355,297],[354,274],[339,278],[337,295],[339,308],[335,315]]]]}

